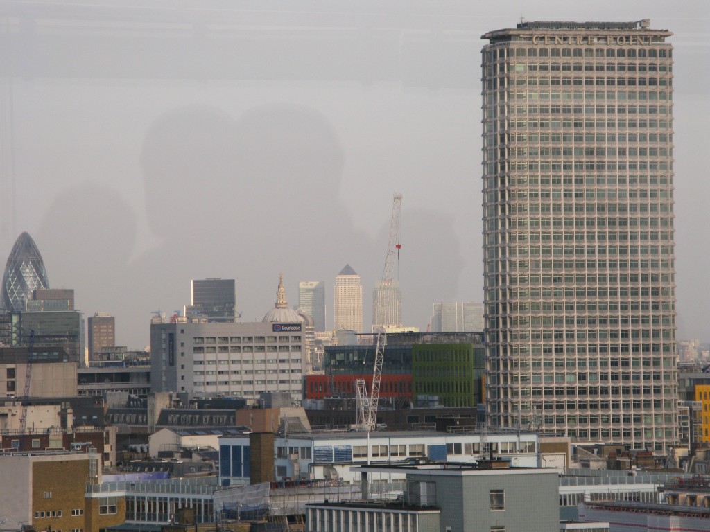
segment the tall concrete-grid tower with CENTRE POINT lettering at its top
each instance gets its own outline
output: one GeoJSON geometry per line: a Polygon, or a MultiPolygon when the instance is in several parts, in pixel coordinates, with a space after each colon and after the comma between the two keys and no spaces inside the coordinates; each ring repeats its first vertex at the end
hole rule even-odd
{"type": "Polygon", "coordinates": [[[493,425],[676,440],[671,35],[640,21],[483,36],[493,425]]]}

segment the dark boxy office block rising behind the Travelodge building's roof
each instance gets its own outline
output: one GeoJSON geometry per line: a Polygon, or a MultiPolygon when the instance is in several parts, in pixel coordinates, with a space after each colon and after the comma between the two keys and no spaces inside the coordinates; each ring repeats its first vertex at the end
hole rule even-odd
{"type": "Polygon", "coordinates": [[[236,321],[234,279],[192,279],[192,301],[185,306],[185,316],[216,323],[236,321]]]}

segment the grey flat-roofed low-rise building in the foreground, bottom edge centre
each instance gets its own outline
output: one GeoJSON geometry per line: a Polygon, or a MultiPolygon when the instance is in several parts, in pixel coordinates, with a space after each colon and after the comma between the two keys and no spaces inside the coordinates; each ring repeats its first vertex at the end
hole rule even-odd
{"type": "Polygon", "coordinates": [[[307,504],[308,531],[542,532],[559,528],[554,470],[510,467],[502,461],[364,465],[354,470],[361,473],[361,500],[307,504]],[[405,482],[399,490],[378,489],[377,479],[385,477],[405,477],[405,482]]]}

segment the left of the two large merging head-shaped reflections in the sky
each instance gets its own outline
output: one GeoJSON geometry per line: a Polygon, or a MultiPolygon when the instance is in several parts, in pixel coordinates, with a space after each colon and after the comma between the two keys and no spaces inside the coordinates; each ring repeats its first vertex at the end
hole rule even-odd
{"type": "Polygon", "coordinates": [[[165,113],[148,129],[141,162],[155,233],[226,221],[236,175],[234,125],[219,109],[189,106],[165,113]]]}

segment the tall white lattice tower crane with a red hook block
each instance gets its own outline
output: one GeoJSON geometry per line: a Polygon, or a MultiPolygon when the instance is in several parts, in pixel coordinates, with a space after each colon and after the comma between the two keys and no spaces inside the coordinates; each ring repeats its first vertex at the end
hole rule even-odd
{"type": "MultiPolygon", "coordinates": [[[[392,261],[397,255],[397,279],[399,281],[399,250],[402,245],[399,242],[400,236],[400,211],[402,209],[402,196],[395,194],[392,205],[392,218],[390,221],[390,238],[387,246],[387,257],[385,259],[385,268],[382,272],[382,282],[380,288],[390,287],[393,285],[391,276],[392,261]]],[[[397,287],[399,288],[399,287],[397,287]]],[[[378,290],[375,290],[377,296],[378,290]]],[[[401,300],[399,300],[401,301],[401,300]]],[[[377,305],[377,301],[375,301],[377,305]]],[[[398,321],[401,321],[401,308],[398,312],[398,321]]],[[[386,323],[393,325],[393,323],[386,323]]],[[[373,330],[375,323],[373,323],[373,330]]],[[[382,364],[385,358],[385,346],[387,345],[387,335],[382,328],[377,331],[377,345],[375,348],[375,362],[372,369],[372,384],[370,394],[367,394],[366,382],[364,379],[357,379],[355,389],[357,392],[357,407],[358,407],[358,424],[367,432],[372,432],[377,427],[377,406],[380,400],[380,384],[382,381],[382,364]]]]}

